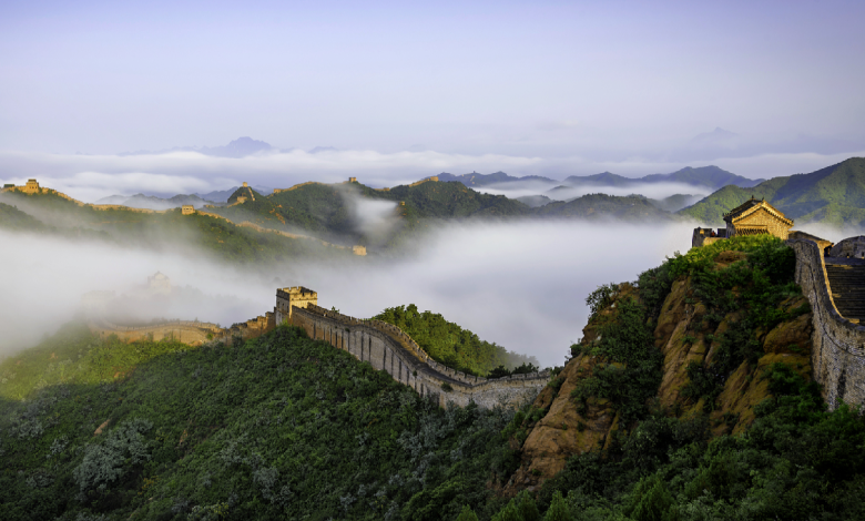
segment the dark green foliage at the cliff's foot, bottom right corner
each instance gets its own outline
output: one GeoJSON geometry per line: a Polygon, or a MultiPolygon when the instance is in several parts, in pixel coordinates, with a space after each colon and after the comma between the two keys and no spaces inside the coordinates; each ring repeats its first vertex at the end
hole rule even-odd
{"type": "Polygon", "coordinates": [[[610,450],[572,458],[539,505],[564,491],[573,521],[864,519],[863,417],[826,411],[784,365],[763,377],[774,396],[743,436],[708,441],[705,417],[650,417],[610,450]]]}

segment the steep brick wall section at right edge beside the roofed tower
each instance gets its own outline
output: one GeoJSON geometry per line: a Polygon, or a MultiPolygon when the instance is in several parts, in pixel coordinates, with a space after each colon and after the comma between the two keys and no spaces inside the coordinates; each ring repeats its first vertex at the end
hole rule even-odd
{"type": "Polygon", "coordinates": [[[823,262],[823,251],[808,239],[786,242],[796,252],[796,283],[807,296],[814,316],[814,379],[823,386],[830,408],[841,400],[865,403],[865,327],[842,317],[835,308],[823,262]]]}

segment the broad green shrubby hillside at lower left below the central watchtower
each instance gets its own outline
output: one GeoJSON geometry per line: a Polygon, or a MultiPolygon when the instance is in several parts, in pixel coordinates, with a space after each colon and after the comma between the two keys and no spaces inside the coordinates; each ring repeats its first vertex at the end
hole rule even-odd
{"type": "Polygon", "coordinates": [[[517,463],[512,412],[439,409],[296,328],[194,348],[68,327],[0,375],[3,520],[488,518],[517,463]]]}

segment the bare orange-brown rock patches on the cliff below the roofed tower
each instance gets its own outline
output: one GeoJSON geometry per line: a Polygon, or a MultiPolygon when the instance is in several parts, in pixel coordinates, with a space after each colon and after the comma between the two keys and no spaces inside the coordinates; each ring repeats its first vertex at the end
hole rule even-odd
{"type": "MultiPolygon", "coordinates": [[[[715,260],[715,268],[725,268],[744,258],[742,252],[723,252],[715,260]]],[[[630,285],[620,285],[617,300],[592,317],[583,328],[581,345],[596,340],[600,324],[613,313],[615,303],[634,294],[630,285]]],[[[806,303],[805,297],[790,298],[781,307],[790,311],[806,303]]],[[[741,319],[740,313],[731,313],[716,327],[711,327],[710,320],[704,320],[706,313],[705,304],[695,297],[690,278],[680,278],[673,283],[654,328],[654,346],[664,356],[657,403],[670,416],[684,418],[704,410],[702,399],[693,402],[681,396],[689,382],[688,366],[691,362],[711,361],[721,346],[724,331],[741,319]]],[[[770,331],[756,331],[756,340],[761,343],[764,354],[755,367],[743,362],[727,377],[709,416],[713,435],[735,435],[753,423],[754,406],[770,395],[769,381],[763,375],[772,364],[783,361],[808,377],[812,329],[811,313],[805,313],[778,324],[770,331]]],[[[581,415],[571,398],[571,391],[582,379],[590,377],[599,364],[603,361],[590,354],[572,358],[558,376],[563,380],[558,392],[553,387],[547,387],[535,400],[533,407],[549,410],[539,421],[526,426],[529,433],[521,446],[522,464],[505,488],[506,496],[513,496],[522,489],[537,489],[545,480],[564,469],[568,458],[608,447],[612,435],[628,427],[619,425],[617,411],[608,400],[590,398],[581,415]]],[[[516,448],[519,443],[512,441],[516,448]]]]}

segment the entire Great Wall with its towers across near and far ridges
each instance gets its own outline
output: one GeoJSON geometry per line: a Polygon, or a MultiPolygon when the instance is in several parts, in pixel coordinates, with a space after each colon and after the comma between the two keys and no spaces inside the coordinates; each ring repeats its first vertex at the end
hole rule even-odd
{"type": "MultiPolygon", "coordinates": [[[[435,181],[438,180],[430,177],[414,185],[435,181]]],[[[349,178],[348,182],[356,182],[356,178],[349,178]]],[[[307,184],[311,183],[286,190],[295,190],[307,184]]],[[[2,192],[7,191],[20,191],[27,194],[51,193],[80,206],[90,206],[100,211],[165,212],[121,205],[85,204],[60,192],[42,188],[35,180],[30,180],[26,186],[2,188],[2,192]]],[[[274,193],[279,192],[282,191],[274,191],[274,193]]],[[[184,206],[182,213],[189,215],[196,211],[184,206]]],[[[210,212],[197,213],[228,221],[210,212]]],[[[865,321],[865,236],[851,237],[833,244],[804,232],[791,231],[792,219],[786,218],[765,201],[756,201],[753,197],[725,214],[724,221],[726,227],[719,228],[718,232],[712,228],[695,228],[692,235],[692,247],[709,245],[735,235],[767,233],[784,239],[795,252],[795,282],[802,287],[813,310],[814,379],[822,386],[823,396],[830,408],[834,409],[841,402],[865,405],[865,325],[859,324],[865,321]]],[[[253,223],[244,222],[236,225],[260,232],[279,233],[288,237],[314,239],[304,235],[263,228],[253,223]]],[[[326,242],[322,243],[330,245],[326,242]]],[[[337,247],[346,248],[346,246],[337,247]]],[[[358,255],[366,254],[365,249],[358,249],[357,246],[354,252],[358,255]]],[[[548,372],[513,375],[509,378],[487,380],[455,371],[432,360],[399,328],[378,320],[357,319],[328,311],[317,306],[317,296],[297,302],[295,295],[293,300],[291,293],[296,290],[305,289],[277,290],[277,305],[273,313],[268,311],[246,323],[235,324],[231,328],[221,328],[208,323],[179,320],[126,327],[104,319],[92,319],[89,325],[91,330],[101,336],[116,335],[125,341],[173,338],[195,345],[207,341],[230,343],[235,338],[255,338],[285,321],[303,327],[312,338],[325,340],[376,369],[386,370],[397,381],[442,406],[448,401],[459,406],[466,406],[471,401],[481,407],[515,406],[536,396],[549,380],[548,372]]],[[[311,293],[315,295],[314,292],[311,293]]]]}

